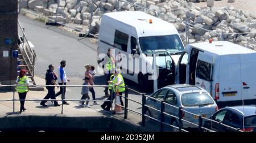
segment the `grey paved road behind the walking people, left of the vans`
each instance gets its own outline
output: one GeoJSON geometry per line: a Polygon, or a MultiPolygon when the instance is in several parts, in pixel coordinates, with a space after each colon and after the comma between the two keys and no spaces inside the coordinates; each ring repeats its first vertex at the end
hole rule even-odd
{"type": "MultiPolygon", "coordinates": [[[[55,68],[59,67],[60,60],[67,60],[68,78],[71,80],[69,85],[82,85],[84,77],[84,65],[90,63],[97,65],[97,45],[90,39],[79,40],[75,34],[62,31],[57,27],[52,27],[40,23],[39,21],[31,20],[25,16],[19,15],[19,21],[22,27],[25,28],[25,33],[35,45],[37,54],[35,75],[44,78],[48,64],[54,64],[55,68]]],[[[19,32],[20,33],[20,32],[19,32]]],[[[96,73],[96,85],[104,85],[104,76],[96,73]]],[[[136,85],[127,81],[129,86],[136,89],[136,85]]],[[[97,88],[96,98],[104,99],[104,88],[97,88]]],[[[66,93],[67,99],[80,99],[81,88],[68,88],[66,93]]],[[[132,99],[141,102],[141,96],[129,94],[132,99]]],[[[129,103],[131,109],[141,111],[137,103],[129,103]]],[[[100,109],[100,106],[93,106],[93,109],[100,109]]]]}

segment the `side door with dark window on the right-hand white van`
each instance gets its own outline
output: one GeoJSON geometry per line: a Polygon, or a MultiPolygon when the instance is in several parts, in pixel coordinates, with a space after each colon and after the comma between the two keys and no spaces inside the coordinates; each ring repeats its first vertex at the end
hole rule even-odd
{"type": "Polygon", "coordinates": [[[212,92],[212,63],[211,55],[199,51],[196,63],[196,85],[207,90],[210,94],[212,92]]]}

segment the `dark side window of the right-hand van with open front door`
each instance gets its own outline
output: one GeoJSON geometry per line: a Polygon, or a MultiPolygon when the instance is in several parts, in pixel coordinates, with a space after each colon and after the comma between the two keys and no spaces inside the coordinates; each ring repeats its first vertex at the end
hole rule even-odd
{"type": "Polygon", "coordinates": [[[212,64],[197,60],[196,77],[199,79],[210,81],[210,73],[212,71],[212,64]]]}

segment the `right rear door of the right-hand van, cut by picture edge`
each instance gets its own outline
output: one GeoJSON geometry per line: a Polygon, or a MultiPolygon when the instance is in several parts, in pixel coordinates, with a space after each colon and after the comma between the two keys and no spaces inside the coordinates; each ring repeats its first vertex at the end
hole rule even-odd
{"type": "Polygon", "coordinates": [[[241,54],[242,99],[256,98],[256,53],[241,54]]]}

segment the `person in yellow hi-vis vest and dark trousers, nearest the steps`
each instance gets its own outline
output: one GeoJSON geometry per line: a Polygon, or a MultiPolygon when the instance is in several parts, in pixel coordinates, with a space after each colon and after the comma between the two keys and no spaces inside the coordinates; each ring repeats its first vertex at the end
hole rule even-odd
{"type": "MultiPolygon", "coordinates": [[[[28,80],[28,77],[26,76],[27,71],[26,70],[20,70],[19,76],[16,79],[16,84],[18,85],[28,85],[30,84],[30,81],[28,80]]],[[[19,93],[19,99],[26,99],[28,87],[27,86],[16,86],[16,91],[19,93]]],[[[20,101],[20,113],[22,111],[25,111],[24,107],[25,101],[20,101]]]]}

